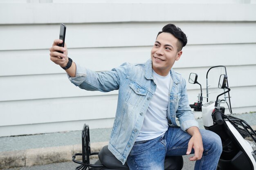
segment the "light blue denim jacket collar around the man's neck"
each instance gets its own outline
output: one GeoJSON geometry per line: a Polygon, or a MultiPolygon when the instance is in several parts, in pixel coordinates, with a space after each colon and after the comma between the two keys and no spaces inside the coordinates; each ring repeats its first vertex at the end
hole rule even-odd
{"type": "MultiPolygon", "coordinates": [[[[154,79],[153,78],[153,68],[152,68],[152,60],[149,59],[146,61],[146,64],[145,64],[145,70],[144,70],[144,76],[146,77],[146,79],[154,79]]],[[[173,68],[171,68],[170,70],[170,75],[173,79],[173,82],[175,84],[178,84],[180,83],[180,79],[179,77],[176,75],[175,71],[173,71],[173,68]]]]}

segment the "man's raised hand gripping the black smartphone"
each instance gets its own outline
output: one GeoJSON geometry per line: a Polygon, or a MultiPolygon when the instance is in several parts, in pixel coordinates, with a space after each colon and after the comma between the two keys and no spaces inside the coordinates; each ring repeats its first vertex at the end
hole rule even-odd
{"type": "Polygon", "coordinates": [[[52,47],[50,48],[50,60],[55,64],[60,65],[61,67],[67,66],[68,57],[67,57],[67,46],[65,43],[64,48],[58,46],[59,43],[62,43],[62,40],[54,40],[52,47]],[[59,53],[57,51],[63,51],[64,53],[59,53]]]}

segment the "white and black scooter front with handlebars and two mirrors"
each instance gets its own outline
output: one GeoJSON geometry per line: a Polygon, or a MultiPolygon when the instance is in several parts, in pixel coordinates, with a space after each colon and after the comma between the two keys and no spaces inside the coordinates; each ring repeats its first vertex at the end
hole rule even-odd
{"type": "MultiPolygon", "coordinates": [[[[189,83],[199,84],[198,75],[191,73],[189,83]]],[[[218,162],[217,170],[256,170],[256,133],[249,124],[243,119],[226,115],[225,107],[221,104],[227,104],[230,114],[232,108],[230,103],[229,85],[227,80],[227,70],[225,66],[214,66],[209,68],[206,75],[207,80],[207,103],[202,104],[202,86],[200,84],[201,94],[198,95],[198,101],[191,104],[194,111],[202,112],[204,128],[218,134],[222,141],[222,154],[218,162]],[[216,101],[209,101],[208,73],[212,68],[225,68],[225,74],[220,75],[218,88],[223,89],[216,101]],[[224,99],[220,97],[224,95],[224,99]],[[227,101],[228,99],[228,101],[227,101]],[[246,139],[245,139],[246,138],[246,139]],[[251,139],[251,140],[247,140],[251,139]]]]}

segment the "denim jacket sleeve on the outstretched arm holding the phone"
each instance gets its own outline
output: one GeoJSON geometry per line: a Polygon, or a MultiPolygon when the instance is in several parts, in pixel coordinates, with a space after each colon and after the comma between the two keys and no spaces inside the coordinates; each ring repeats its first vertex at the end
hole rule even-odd
{"type": "Polygon", "coordinates": [[[76,64],[76,77],[68,77],[74,85],[87,91],[109,92],[119,89],[129,69],[130,64],[124,63],[110,71],[95,72],[76,64]]]}

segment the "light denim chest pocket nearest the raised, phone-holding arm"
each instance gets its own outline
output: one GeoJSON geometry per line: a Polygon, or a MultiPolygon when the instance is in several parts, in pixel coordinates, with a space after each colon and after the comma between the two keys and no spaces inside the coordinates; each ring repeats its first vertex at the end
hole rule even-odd
{"type": "Polygon", "coordinates": [[[130,89],[126,94],[125,100],[129,104],[137,106],[141,99],[147,95],[148,91],[135,82],[130,82],[129,87],[130,89]]]}

